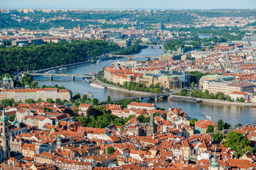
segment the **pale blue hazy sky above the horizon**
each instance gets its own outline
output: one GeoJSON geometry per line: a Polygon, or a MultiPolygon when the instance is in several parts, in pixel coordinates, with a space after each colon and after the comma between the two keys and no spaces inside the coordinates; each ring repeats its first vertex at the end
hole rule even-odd
{"type": "Polygon", "coordinates": [[[256,0],[0,0],[0,8],[256,9],[256,0]]]}

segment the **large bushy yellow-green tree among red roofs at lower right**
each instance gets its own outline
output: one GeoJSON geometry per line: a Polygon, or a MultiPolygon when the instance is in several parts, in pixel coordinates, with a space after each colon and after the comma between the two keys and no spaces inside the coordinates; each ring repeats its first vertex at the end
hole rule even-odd
{"type": "Polygon", "coordinates": [[[232,148],[232,150],[236,150],[234,156],[237,159],[248,150],[252,153],[252,155],[254,155],[255,153],[255,149],[250,146],[250,141],[247,138],[245,138],[241,132],[228,132],[225,141],[225,147],[232,148]]]}

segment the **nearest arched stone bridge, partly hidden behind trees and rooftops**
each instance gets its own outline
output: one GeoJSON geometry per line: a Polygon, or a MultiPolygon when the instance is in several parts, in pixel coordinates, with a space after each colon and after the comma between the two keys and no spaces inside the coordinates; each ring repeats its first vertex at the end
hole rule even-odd
{"type": "MultiPolygon", "coordinates": [[[[158,98],[168,98],[170,96],[170,94],[172,93],[159,93],[159,94],[147,94],[147,95],[140,95],[140,96],[132,96],[132,97],[120,97],[120,98],[116,98],[116,99],[111,99],[111,102],[117,102],[117,101],[122,101],[123,99],[139,99],[140,101],[142,99],[145,98],[149,98],[150,100],[154,99],[155,101],[157,101],[158,98]]],[[[107,100],[103,100],[100,101],[100,103],[102,102],[107,102],[107,100]]]]}

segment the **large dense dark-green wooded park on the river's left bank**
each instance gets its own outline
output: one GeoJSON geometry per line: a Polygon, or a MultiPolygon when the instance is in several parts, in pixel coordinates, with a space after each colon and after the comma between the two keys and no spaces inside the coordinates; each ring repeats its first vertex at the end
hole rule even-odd
{"type": "Polygon", "coordinates": [[[0,73],[15,73],[83,62],[86,58],[90,59],[118,49],[115,43],[99,39],[0,48],[0,73]]]}

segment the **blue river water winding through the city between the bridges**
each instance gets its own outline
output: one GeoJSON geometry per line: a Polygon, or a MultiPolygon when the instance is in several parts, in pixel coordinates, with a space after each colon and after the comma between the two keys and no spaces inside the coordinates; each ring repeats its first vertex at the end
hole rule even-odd
{"type": "MultiPolygon", "coordinates": [[[[156,56],[164,53],[163,49],[159,49],[157,46],[154,48],[145,48],[141,50],[140,53],[136,55],[141,56],[156,56]]],[[[119,58],[118,60],[128,60],[127,58],[119,58]]],[[[145,60],[144,58],[135,58],[134,60],[145,60]]],[[[89,74],[92,73],[93,69],[97,73],[104,66],[111,66],[111,63],[116,60],[104,60],[99,63],[89,64],[86,66],[72,67],[64,71],[56,71],[56,73],[63,74],[89,74]]],[[[99,100],[107,99],[108,96],[111,96],[112,99],[120,97],[132,96],[132,94],[115,91],[111,89],[98,89],[97,87],[91,87],[90,84],[84,82],[82,78],[76,78],[72,81],[71,78],[66,77],[54,77],[52,81],[49,78],[44,76],[37,76],[35,80],[38,81],[39,85],[63,85],[67,89],[72,90],[73,94],[83,95],[85,92],[90,92],[93,94],[94,98],[99,100]]],[[[145,101],[146,102],[146,101],[145,101]]],[[[189,117],[206,119],[206,115],[210,115],[214,122],[217,122],[219,119],[223,119],[224,122],[228,122],[231,125],[241,124],[250,124],[253,123],[256,119],[256,108],[247,108],[242,106],[230,106],[226,104],[212,104],[212,103],[180,103],[172,101],[163,101],[159,100],[155,103],[157,107],[160,108],[181,108],[182,111],[188,114],[189,117]]]]}

